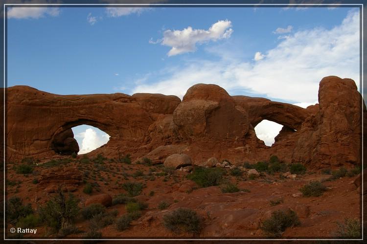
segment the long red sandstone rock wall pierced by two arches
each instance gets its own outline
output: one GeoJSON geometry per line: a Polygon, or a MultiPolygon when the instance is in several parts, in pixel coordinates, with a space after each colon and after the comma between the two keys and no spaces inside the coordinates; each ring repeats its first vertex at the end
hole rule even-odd
{"type": "Polygon", "coordinates": [[[215,157],[240,165],[277,155],[313,168],[352,166],[361,161],[361,111],[367,121],[355,82],[336,76],[321,80],[320,104],[307,109],[230,96],[207,84],[192,86],[182,102],[146,93],[55,95],[25,86],[7,94],[7,159],[15,162],[77,152],[70,128],[87,124],[111,136],[92,156],[130,154],[133,161],[148,157],[155,164],[184,153],[193,164],[215,157]],[[263,119],[283,125],[272,147],[254,131],[263,119]]]}

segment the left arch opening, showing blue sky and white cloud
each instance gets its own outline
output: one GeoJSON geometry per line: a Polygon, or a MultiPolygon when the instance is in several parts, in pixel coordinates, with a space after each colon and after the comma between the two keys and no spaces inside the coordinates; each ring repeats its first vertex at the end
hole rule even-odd
{"type": "Polygon", "coordinates": [[[79,145],[78,155],[92,152],[110,140],[109,134],[91,125],[79,125],[72,127],[71,130],[79,145]]]}

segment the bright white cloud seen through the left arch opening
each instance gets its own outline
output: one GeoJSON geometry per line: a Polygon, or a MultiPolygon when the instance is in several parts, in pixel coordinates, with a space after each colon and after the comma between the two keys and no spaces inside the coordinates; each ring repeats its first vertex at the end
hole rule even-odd
{"type": "Polygon", "coordinates": [[[75,137],[83,137],[82,145],[78,154],[86,154],[93,151],[96,148],[106,144],[110,139],[110,136],[106,133],[98,134],[92,128],[86,129],[85,132],[78,133],[75,137]]]}

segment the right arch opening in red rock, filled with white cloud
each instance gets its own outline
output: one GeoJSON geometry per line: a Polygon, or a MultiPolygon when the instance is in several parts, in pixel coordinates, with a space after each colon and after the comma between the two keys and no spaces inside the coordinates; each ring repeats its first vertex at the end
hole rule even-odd
{"type": "Polygon", "coordinates": [[[279,134],[282,128],[283,125],[264,119],[258,123],[254,129],[257,138],[263,140],[265,145],[271,147],[275,143],[275,137],[279,134]]]}

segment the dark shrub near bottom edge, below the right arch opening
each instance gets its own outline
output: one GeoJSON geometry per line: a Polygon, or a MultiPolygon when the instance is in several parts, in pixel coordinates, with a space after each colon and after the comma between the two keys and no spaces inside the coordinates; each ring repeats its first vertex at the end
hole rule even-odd
{"type": "Polygon", "coordinates": [[[279,237],[287,227],[299,224],[297,214],[292,210],[278,210],[272,217],[262,222],[261,229],[269,236],[279,237]]]}

